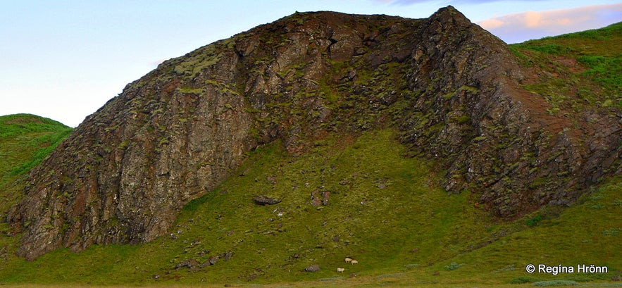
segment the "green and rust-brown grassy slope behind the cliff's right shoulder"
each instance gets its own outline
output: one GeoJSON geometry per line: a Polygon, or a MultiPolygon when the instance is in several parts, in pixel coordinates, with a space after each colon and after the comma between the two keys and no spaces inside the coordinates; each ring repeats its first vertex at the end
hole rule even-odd
{"type": "MultiPolygon", "coordinates": [[[[525,89],[545,98],[549,113],[622,106],[622,23],[512,44],[523,65],[546,73],[525,89]],[[565,59],[565,60],[564,60],[565,59]],[[568,67],[568,59],[576,67],[568,67]]],[[[572,66],[572,65],[571,65],[572,66]]]]}

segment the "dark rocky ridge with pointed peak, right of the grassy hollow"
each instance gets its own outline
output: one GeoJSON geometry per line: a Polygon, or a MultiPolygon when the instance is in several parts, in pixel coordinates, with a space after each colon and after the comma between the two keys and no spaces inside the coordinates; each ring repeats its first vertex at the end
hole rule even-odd
{"type": "Polygon", "coordinates": [[[611,113],[547,113],[545,99],[521,87],[540,72],[457,11],[433,15],[417,34],[428,41],[414,45],[406,82],[418,96],[398,126],[413,154],[441,159],[448,192],[476,191],[485,209],[515,218],[571,204],[622,172],[622,126],[611,113]]]}

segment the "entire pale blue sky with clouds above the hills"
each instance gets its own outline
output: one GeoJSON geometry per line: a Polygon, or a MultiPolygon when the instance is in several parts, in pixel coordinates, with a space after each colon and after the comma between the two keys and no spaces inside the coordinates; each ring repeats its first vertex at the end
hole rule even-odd
{"type": "Polygon", "coordinates": [[[447,5],[508,43],[622,21],[611,0],[0,0],[0,115],[75,127],[161,61],[296,11],[427,18],[447,5]]]}

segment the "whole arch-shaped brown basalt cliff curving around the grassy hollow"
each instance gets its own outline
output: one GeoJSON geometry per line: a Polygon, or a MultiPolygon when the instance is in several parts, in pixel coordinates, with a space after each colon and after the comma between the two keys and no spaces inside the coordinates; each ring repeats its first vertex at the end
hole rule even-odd
{"type": "Polygon", "coordinates": [[[330,132],[386,126],[444,168],[448,192],[500,217],[568,204],[620,172],[619,123],[545,113],[521,89],[528,73],[450,6],[423,20],[296,13],[128,84],[31,171],[8,220],[28,259],[149,242],[260,144],[301,154],[330,132]]]}

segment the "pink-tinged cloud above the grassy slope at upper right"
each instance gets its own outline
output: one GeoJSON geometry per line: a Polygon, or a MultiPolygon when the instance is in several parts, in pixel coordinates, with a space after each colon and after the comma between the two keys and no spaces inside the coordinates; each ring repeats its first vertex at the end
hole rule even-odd
{"type": "Polygon", "coordinates": [[[478,25],[508,43],[590,30],[622,21],[622,3],[493,17],[478,25]]]}

